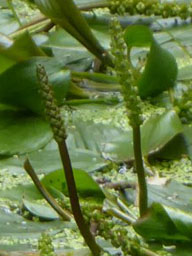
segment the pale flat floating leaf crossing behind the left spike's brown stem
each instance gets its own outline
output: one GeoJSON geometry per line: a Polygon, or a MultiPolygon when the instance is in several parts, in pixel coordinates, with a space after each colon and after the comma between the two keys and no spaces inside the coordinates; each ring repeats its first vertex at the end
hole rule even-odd
{"type": "MultiPolygon", "coordinates": [[[[68,136],[69,138],[69,136],[68,136]]],[[[28,154],[28,157],[38,174],[49,173],[62,168],[57,145],[49,148],[48,143],[41,151],[34,151],[28,154]]],[[[68,140],[69,154],[73,168],[82,169],[86,172],[94,172],[106,167],[109,163],[105,161],[98,152],[84,148],[70,148],[68,140]]],[[[10,173],[23,173],[24,156],[9,157],[0,159],[0,168],[9,170],[10,173]]]]}

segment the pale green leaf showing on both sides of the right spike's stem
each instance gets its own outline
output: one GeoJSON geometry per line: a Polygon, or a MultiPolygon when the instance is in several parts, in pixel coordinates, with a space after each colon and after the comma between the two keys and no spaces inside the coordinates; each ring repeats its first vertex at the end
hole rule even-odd
{"type": "MultiPolygon", "coordinates": [[[[177,114],[170,110],[161,115],[149,118],[141,127],[141,144],[144,155],[162,149],[171,139],[182,132],[182,124],[177,114]]],[[[108,133],[109,133],[108,129],[108,133]]],[[[119,130],[113,139],[104,142],[104,153],[116,161],[126,161],[133,158],[132,130],[119,130]]]]}

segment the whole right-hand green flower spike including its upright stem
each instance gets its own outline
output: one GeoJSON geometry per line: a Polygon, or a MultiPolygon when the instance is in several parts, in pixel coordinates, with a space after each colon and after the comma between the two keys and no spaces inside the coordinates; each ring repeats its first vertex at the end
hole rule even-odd
{"type": "Polygon", "coordinates": [[[121,92],[124,98],[126,113],[129,124],[133,129],[133,148],[135,156],[135,168],[139,186],[139,211],[143,216],[147,211],[147,185],[145,180],[145,170],[141,151],[141,131],[142,124],[140,98],[138,96],[137,79],[129,58],[127,58],[126,44],[123,31],[117,19],[113,19],[111,24],[112,42],[111,49],[114,56],[114,67],[121,85],[121,92]]]}

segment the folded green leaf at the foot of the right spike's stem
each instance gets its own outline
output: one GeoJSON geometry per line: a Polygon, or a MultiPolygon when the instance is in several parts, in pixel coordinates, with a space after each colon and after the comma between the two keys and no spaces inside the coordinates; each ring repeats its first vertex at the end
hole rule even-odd
{"type": "MultiPolygon", "coordinates": [[[[135,231],[147,240],[190,241],[190,237],[187,234],[188,230],[185,232],[182,228],[178,229],[176,225],[182,212],[177,209],[172,209],[172,211],[168,212],[168,209],[171,208],[164,207],[159,203],[153,203],[147,214],[133,224],[135,231]]],[[[181,222],[183,225],[188,224],[192,228],[191,215],[184,214],[181,222]]]]}

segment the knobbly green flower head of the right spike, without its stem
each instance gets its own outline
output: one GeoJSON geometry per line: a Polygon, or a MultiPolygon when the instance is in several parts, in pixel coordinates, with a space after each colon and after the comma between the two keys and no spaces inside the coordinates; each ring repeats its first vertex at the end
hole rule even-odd
{"type": "Polygon", "coordinates": [[[142,124],[140,98],[126,49],[122,28],[119,21],[114,18],[111,22],[111,52],[114,56],[114,67],[121,84],[129,123],[134,127],[142,124]]]}

